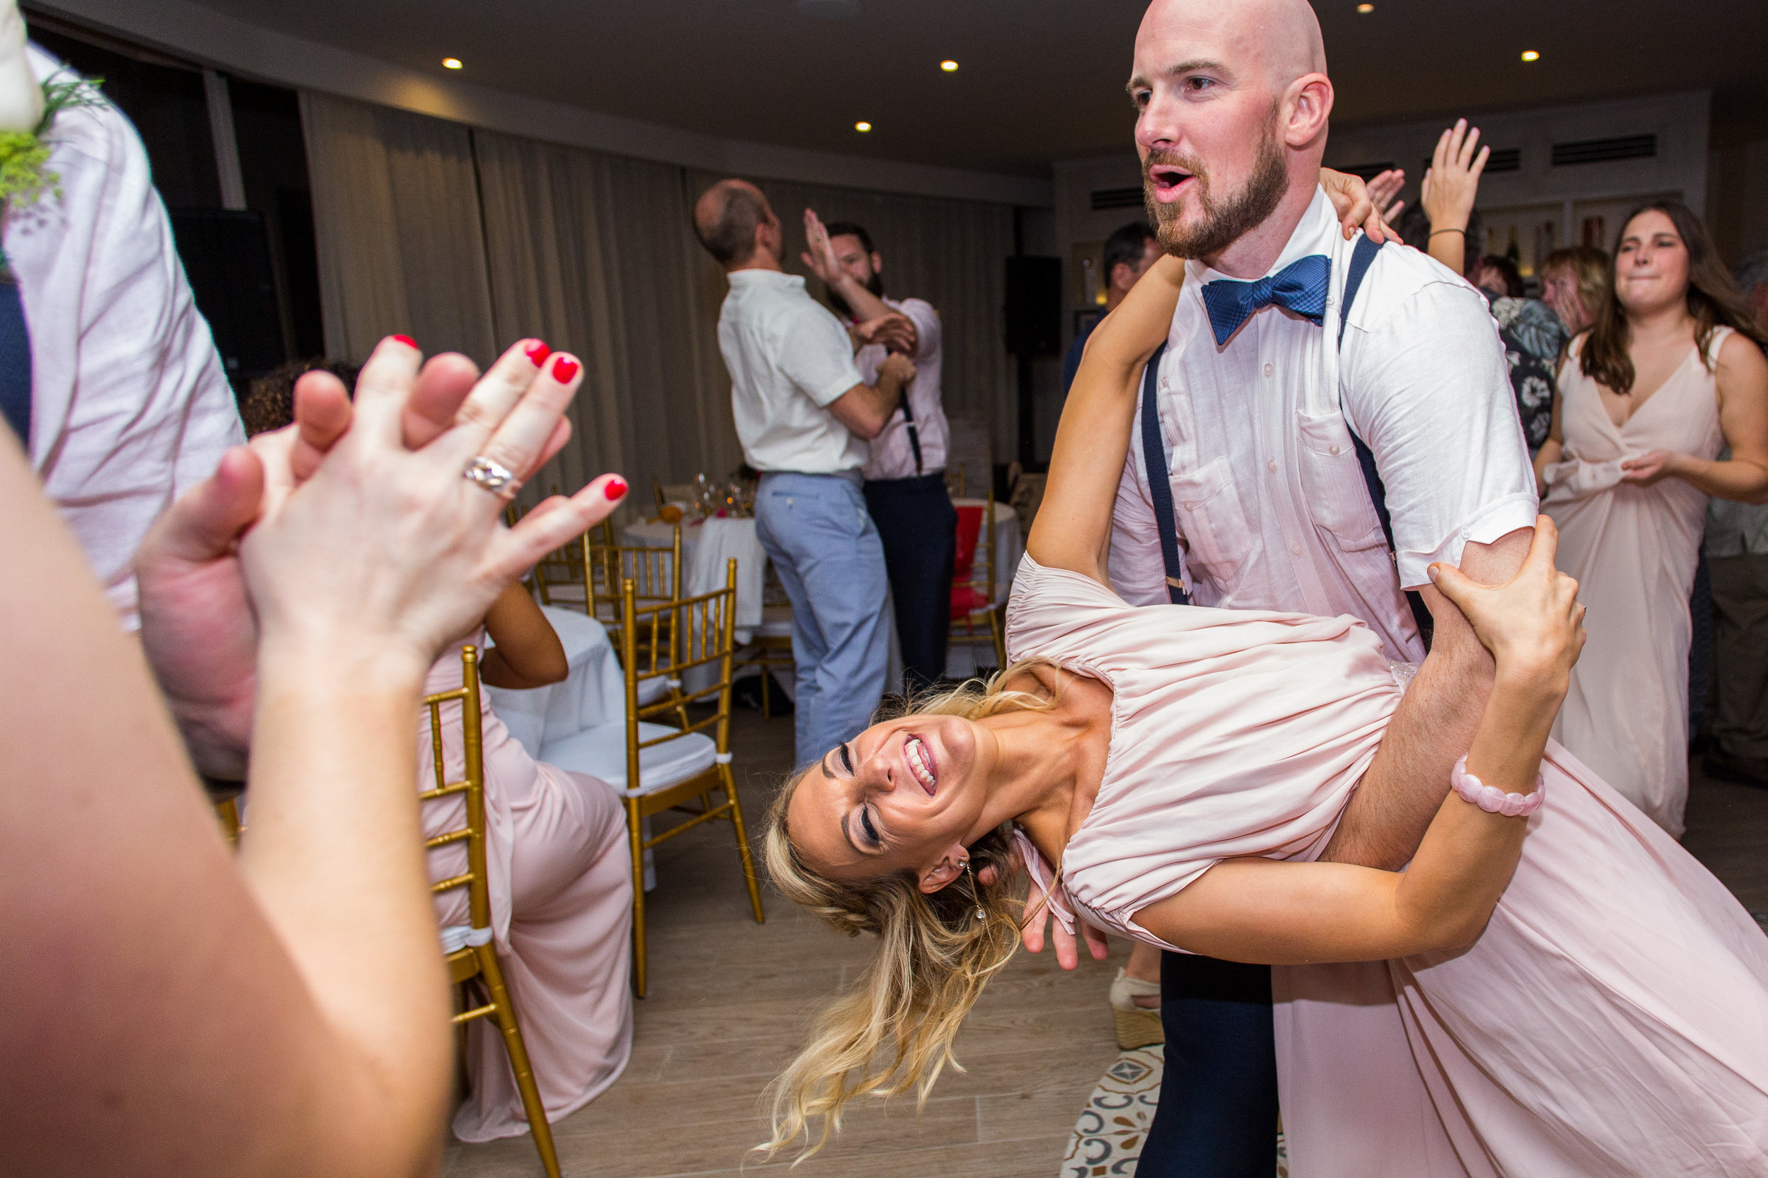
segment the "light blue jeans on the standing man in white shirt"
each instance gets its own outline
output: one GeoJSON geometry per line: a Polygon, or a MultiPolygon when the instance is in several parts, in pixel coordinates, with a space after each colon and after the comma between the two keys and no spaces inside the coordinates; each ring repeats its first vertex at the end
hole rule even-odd
{"type": "Polygon", "coordinates": [[[792,600],[797,764],[865,731],[884,697],[889,580],[859,472],[764,474],[755,532],[792,600]]]}

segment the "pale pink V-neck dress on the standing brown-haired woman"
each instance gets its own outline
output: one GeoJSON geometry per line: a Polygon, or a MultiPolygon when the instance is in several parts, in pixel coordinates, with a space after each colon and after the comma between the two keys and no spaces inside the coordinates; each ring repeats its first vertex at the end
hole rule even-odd
{"type": "MultiPolygon", "coordinates": [[[[1708,357],[1729,334],[1713,333],[1708,357]]],[[[1680,838],[1688,801],[1688,594],[1706,493],[1674,478],[1623,483],[1621,462],[1651,449],[1715,458],[1724,446],[1715,379],[1690,347],[1627,425],[1614,425],[1579,364],[1584,340],[1559,370],[1565,456],[1545,470],[1542,511],[1559,525],[1558,564],[1577,578],[1589,640],[1552,734],[1680,838]]]]}

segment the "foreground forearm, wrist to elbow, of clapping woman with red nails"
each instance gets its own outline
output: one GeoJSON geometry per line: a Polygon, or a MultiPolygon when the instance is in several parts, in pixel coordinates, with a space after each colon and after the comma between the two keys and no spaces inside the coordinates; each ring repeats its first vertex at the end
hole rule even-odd
{"type": "Polygon", "coordinates": [[[415,798],[424,667],[338,649],[265,642],[239,863],[338,1036],[336,1088],[392,1157],[421,1155],[451,1052],[415,798]]]}

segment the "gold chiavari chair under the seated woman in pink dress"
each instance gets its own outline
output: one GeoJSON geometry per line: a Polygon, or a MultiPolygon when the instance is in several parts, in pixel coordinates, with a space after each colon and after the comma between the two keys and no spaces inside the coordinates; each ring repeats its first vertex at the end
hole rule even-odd
{"type": "Polygon", "coordinates": [[[552,1127],[546,1123],[546,1105],[541,1104],[539,1088],[534,1084],[534,1068],[529,1063],[529,1049],[522,1042],[522,1026],[516,1022],[516,1008],[509,1001],[504,987],[504,971],[497,962],[497,948],[492,945],[492,893],[484,870],[484,736],[479,723],[479,651],[465,646],[460,651],[461,686],[453,692],[440,692],[424,697],[430,709],[430,753],[435,762],[435,789],[417,794],[419,801],[465,794],[467,826],[437,835],[424,842],[426,849],[444,847],[456,842],[467,844],[467,870],[451,879],[444,879],[430,888],[440,895],[454,888],[467,888],[467,913],[472,923],[442,929],[442,959],[447,964],[449,982],[465,987],[477,982],[476,989],[484,992],[484,1001],[469,1005],[454,1015],[454,1024],[472,1019],[495,1019],[504,1033],[504,1047],[509,1051],[509,1067],[516,1074],[516,1090],[522,1093],[522,1107],[529,1116],[529,1128],[534,1132],[534,1148],[539,1150],[541,1166],[548,1178],[559,1178],[559,1155],[553,1150],[552,1127]],[[442,752],[442,706],[460,700],[461,738],[465,745],[465,778],[447,780],[442,752]]]}

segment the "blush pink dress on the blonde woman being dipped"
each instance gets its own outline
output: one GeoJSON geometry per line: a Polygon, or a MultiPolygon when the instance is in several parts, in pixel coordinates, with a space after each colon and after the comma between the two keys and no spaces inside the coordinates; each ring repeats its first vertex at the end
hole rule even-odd
{"type": "MultiPolygon", "coordinates": [[[[1153,945],[1135,914],[1218,860],[1324,849],[1402,693],[1354,619],[1137,608],[1029,555],[1008,656],[1112,686],[1063,890],[1153,945]]],[[[1273,968],[1292,1178],[1768,1174],[1768,936],[1563,748],[1542,771],[1473,946],[1273,968]]]]}

